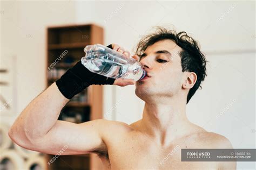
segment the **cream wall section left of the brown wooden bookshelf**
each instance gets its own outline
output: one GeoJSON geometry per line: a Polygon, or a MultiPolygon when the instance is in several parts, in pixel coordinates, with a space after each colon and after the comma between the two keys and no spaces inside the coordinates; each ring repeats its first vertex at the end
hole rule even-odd
{"type": "Polygon", "coordinates": [[[15,112],[1,115],[4,121],[12,122],[46,88],[45,28],[73,23],[75,5],[70,1],[1,1],[1,11],[1,67],[14,67],[11,59],[17,56],[16,72],[12,75],[16,77],[17,88],[12,100],[17,104],[11,103],[15,112]]]}

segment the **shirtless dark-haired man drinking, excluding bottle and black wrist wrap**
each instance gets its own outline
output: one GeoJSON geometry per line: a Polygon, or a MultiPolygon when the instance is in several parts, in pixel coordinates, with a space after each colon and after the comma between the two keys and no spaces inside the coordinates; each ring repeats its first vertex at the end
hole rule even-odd
{"type": "MultiPolygon", "coordinates": [[[[62,155],[96,153],[105,169],[235,169],[235,162],[181,161],[181,148],[232,145],[186,117],[186,104],[206,75],[206,60],[197,42],[185,32],[159,30],[140,40],[137,55],[132,56],[142,63],[147,77],[113,82],[136,84],[136,95],[145,101],[142,119],[130,125],[104,119],[80,124],[58,121],[70,99],[55,82],[21,112],[9,130],[10,138],[29,150],[53,155],[64,146],[68,148],[62,155]]],[[[124,48],[116,44],[112,48],[130,57],[124,48]]]]}

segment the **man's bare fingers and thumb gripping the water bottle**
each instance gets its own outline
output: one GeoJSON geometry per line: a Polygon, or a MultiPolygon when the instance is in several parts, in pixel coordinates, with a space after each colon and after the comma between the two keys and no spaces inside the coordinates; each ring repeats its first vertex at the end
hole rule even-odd
{"type": "MultiPolygon", "coordinates": [[[[129,59],[131,57],[131,58],[139,61],[138,55],[131,56],[131,53],[129,51],[126,51],[123,47],[120,47],[117,44],[111,44],[111,45],[112,45],[112,48],[114,51],[122,53],[125,56],[125,58],[129,59]]],[[[118,78],[118,79],[114,80],[114,83],[113,83],[113,85],[117,85],[117,86],[121,86],[121,87],[130,85],[130,84],[135,84],[135,81],[133,79],[118,78]]]]}

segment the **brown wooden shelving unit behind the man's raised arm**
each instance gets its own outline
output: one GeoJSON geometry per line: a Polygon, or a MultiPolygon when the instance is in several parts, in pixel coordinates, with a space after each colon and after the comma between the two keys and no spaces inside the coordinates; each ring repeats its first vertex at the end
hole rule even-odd
{"type": "MultiPolygon", "coordinates": [[[[50,86],[84,55],[84,47],[103,44],[103,28],[95,24],[52,26],[47,30],[46,84],[50,86]]],[[[82,123],[103,118],[103,87],[90,86],[65,105],[58,119],[82,123]]],[[[54,155],[46,155],[46,162],[54,155]]],[[[96,155],[60,155],[48,166],[55,169],[102,169],[96,155]]]]}

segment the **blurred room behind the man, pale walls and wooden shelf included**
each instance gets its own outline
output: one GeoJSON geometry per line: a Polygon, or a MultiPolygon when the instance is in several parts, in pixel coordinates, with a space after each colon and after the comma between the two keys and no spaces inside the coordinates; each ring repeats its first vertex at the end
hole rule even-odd
{"type": "MultiPolygon", "coordinates": [[[[132,52],[153,26],[186,31],[200,42],[209,61],[203,89],[187,105],[188,119],[227,137],[234,148],[255,148],[255,1],[0,5],[1,169],[100,169],[92,155],[54,159],[55,155],[27,151],[11,142],[8,129],[33,98],[84,56],[86,45],[115,43],[132,52]]],[[[144,106],[134,89],[91,86],[66,105],[59,119],[81,123],[105,118],[130,124],[142,118],[144,106]]],[[[255,162],[237,163],[237,169],[255,167],[255,162]]]]}

